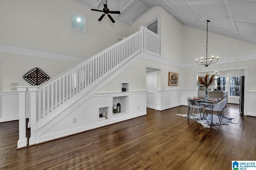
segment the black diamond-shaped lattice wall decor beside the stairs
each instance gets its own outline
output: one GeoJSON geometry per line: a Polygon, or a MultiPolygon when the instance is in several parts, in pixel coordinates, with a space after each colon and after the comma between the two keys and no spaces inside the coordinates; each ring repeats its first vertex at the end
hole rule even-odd
{"type": "Polygon", "coordinates": [[[50,77],[43,70],[36,67],[24,74],[23,79],[32,86],[39,86],[50,80],[50,77]]]}

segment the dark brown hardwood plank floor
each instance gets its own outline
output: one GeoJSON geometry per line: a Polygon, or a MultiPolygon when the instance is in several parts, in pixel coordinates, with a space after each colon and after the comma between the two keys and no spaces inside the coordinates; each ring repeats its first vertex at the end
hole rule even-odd
{"type": "Polygon", "coordinates": [[[227,170],[232,160],[256,160],[256,117],[227,104],[236,124],[204,128],[176,113],[147,109],[147,115],[16,150],[18,121],[0,123],[0,169],[227,170]]]}

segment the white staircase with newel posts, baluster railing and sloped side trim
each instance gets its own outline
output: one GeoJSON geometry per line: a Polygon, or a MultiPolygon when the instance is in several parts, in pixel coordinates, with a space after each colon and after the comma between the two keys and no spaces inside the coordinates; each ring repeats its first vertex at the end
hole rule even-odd
{"type": "MultiPolygon", "coordinates": [[[[30,92],[29,145],[44,141],[37,139],[54,126],[56,117],[63,119],[67,116],[72,108],[77,108],[96,93],[101,88],[100,84],[110,81],[111,76],[122,67],[128,67],[134,63],[134,57],[142,52],[160,56],[160,36],[143,26],[140,27],[140,31],[41,86],[18,87],[19,101],[26,100],[24,94],[27,90],[30,92]]],[[[19,102],[18,148],[26,147],[28,144],[24,135],[24,129],[26,129],[24,105],[23,102],[19,102]]]]}

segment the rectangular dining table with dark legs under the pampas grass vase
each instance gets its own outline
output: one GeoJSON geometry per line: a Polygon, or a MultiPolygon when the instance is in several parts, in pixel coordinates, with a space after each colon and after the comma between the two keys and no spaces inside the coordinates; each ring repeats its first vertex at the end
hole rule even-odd
{"type": "MultiPolygon", "coordinates": [[[[189,111],[190,111],[190,107],[191,107],[191,102],[198,102],[198,103],[208,103],[210,106],[210,117],[211,117],[211,125],[212,124],[212,117],[213,117],[213,108],[214,108],[214,104],[217,102],[220,102],[220,100],[222,100],[222,98],[209,98],[209,99],[204,99],[201,97],[198,98],[192,98],[189,99],[189,106],[188,106],[188,118],[189,118],[189,111]]],[[[203,117],[202,119],[204,119],[204,113],[203,113],[203,117]]]]}

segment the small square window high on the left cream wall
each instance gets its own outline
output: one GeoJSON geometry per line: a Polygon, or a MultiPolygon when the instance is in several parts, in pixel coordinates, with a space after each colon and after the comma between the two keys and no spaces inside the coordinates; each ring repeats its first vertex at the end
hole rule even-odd
{"type": "Polygon", "coordinates": [[[87,34],[87,17],[72,12],[71,29],[87,34]]]}

